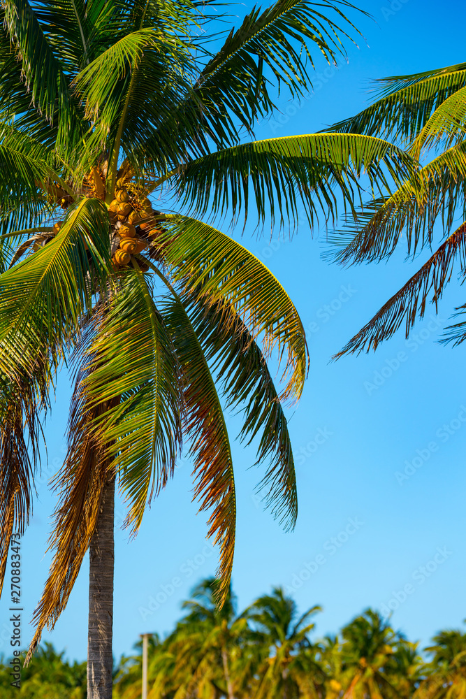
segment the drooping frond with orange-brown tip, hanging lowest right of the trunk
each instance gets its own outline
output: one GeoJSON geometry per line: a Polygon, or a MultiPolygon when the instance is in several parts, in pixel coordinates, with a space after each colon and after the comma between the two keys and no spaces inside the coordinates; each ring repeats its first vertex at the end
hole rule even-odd
{"type": "Polygon", "coordinates": [[[220,547],[219,602],[228,593],[235,549],[236,499],[233,459],[217,389],[189,315],[179,297],[167,303],[163,317],[177,348],[184,376],[186,418],[183,433],[191,442],[200,511],[210,510],[208,536],[220,547]]]}

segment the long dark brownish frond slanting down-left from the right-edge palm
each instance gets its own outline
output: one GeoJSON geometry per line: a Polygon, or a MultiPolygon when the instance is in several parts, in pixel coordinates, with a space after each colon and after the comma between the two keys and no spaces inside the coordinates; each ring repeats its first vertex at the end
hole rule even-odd
{"type": "Polygon", "coordinates": [[[391,338],[403,322],[405,322],[405,336],[408,337],[416,319],[424,316],[430,295],[432,295],[432,303],[435,303],[437,308],[437,301],[442,296],[445,284],[451,280],[453,264],[458,258],[461,272],[464,274],[466,272],[466,222],[440,245],[421,269],[382,306],[354,338],[349,340],[334,359],[344,354],[359,354],[377,349],[377,345],[391,338]]]}

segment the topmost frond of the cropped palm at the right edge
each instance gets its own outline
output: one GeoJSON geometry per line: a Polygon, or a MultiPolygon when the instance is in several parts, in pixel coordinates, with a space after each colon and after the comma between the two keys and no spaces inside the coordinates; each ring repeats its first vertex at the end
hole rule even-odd
{"type": "Polygon", "coordinates": [[[394,138],[409,143],[444,100],[466,86],[466,63],[374,83],[379,99],[333,131],[394,138]]]}

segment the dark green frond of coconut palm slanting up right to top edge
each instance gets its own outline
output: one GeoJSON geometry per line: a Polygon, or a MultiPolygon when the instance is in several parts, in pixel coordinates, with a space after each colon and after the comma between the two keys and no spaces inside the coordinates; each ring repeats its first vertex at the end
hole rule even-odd
{"type": "Polygon", "coordinates": [[[354,6],[326,0],[278,0],[262,11],[254,6],[203,67],[191,94],[170,111],[154,134],[154,145],[160,150],[175,137],[181,140],[181,155],[187,146],[196,154],[205,153],[206,135],[216,147],[238,143],[241,129],[251,131],[257,116],[275,108],[264,71],[270,71],[275,84],[299,96],[312,87],[306,67],[306,59],[314,66],[310,45],[328,62],[344,54],[347,31],[329,18],[333,13],[353,31],[342,9],[354,6]]]}

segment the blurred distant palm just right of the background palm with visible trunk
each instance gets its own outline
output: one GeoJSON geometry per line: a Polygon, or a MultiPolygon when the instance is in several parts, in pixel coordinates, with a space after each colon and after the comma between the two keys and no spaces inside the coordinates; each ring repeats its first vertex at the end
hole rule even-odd
{"type": "Polygon", "coordinates": [[[263,648],[256,699],[316,699],[322,696],[324,673],[316,662],[316,647],[309,634],[315,624],[310,618],[321,611],[311,607],[298,614],[296,603],[282,588],[259,597],[245,612],[263,648]]]}

